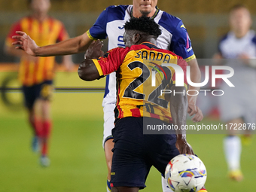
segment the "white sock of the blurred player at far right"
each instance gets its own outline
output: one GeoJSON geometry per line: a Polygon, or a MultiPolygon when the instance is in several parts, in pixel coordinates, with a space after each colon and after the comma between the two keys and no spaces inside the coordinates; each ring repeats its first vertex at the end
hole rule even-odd
{"type": "Polygon", "coordinates": [[[224,153],[229,170],[240,169],[241,139],[239,136],[227,136],[224,138],[224,153]]]}

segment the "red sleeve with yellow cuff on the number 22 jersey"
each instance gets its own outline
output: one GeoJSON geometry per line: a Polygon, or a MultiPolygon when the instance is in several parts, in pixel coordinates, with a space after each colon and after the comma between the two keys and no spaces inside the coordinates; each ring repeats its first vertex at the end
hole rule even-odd
{"type": "Polygon", "coordinates": [[[99,57],[99,59],[92,59],[99,75],[105,76],[111,74],[111,72],[116,72],[123,63],[125,53],[126,49],[117,47],[108,50],[108,52],[105,53],[104,56],[99,57]]]}

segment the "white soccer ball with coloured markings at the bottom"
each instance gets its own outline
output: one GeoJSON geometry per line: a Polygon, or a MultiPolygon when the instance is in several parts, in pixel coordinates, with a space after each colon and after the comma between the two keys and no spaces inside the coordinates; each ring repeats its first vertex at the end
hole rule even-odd
{"type": "Polygon", "coordinates": [[[197,192],[206,183],[206,166],[192,154],[179,154],[166,166],[165,177],[175,192],[197,192]]]}

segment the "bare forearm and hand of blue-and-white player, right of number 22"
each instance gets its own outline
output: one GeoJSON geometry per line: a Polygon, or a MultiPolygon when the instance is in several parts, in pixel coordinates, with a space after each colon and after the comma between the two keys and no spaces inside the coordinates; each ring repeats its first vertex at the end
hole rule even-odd
{"type": "MultiPolygon", "coordinates": [[[[201,72],[197,63],[197,59],[192,59],[187,64],[190,66],[190,78],[191,81],[194,83],[200,83],[201,81],[201,72]]],[[[200,91],[200,87],[192,87],[189,86],[189,90],[197,90],[200,91]]],[[[195,94],[196,95],[196,94],[195,94]]],[[[197,96],[187,96],[188,100],[188,108],[187,113],[189,116],[194,115],[192,120],[194,122],[200,122],[203,120],[203,113],[200,108],[196,105],[197,96]]]]}

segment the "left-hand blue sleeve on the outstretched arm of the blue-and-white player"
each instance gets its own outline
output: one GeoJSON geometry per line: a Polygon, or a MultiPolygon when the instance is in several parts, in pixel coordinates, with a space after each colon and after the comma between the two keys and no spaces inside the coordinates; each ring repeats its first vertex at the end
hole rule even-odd
{"type": "Polygon", "coordinates": [[[108,8],[106,8],[96,20],[96,23],[87,31],[90,39],[105,39],[107,38],[107,23],[108,23],[108,8]]]}

